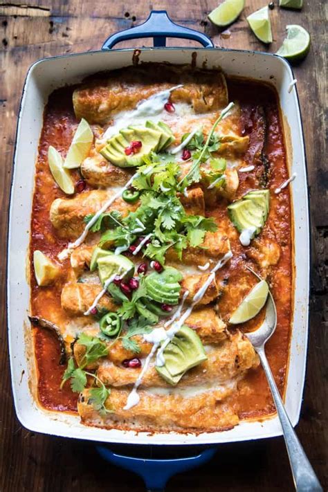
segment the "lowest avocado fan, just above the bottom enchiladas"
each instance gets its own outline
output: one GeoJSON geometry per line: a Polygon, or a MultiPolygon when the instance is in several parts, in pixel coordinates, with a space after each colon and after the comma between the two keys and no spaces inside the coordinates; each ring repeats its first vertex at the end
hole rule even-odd
{"type": "Polygon", "coordinates": [[[206,361],[207,356],[196,331],[183,325],[163,352],[165,365],[156,366],[156,371],[167,383],[176,385],[183,374],[206,361]]]}

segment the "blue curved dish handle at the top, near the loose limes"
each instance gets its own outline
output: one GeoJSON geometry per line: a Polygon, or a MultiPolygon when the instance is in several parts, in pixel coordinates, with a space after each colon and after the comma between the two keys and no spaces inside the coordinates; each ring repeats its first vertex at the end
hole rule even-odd
{"type": "Polygon", "coordinates": [[[214,44],[206,34],[175,24],[167,15],[166,10],[152,10],[148,19],[140,26],[121,30],[119,33],[109,36],[102,45],[102,50],[109,50],[121,41],[139,39],[140,37],[153,37],[156,48],[165,47],[167,37],[193,39],[201,43],[204,48],[214,48],[214,44]]]}

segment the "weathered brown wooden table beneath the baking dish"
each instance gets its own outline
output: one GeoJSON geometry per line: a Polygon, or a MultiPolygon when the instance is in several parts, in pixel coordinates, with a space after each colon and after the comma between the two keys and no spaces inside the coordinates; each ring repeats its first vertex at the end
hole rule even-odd
{"type": "MultiPolygon", "coordinates": [[[[275,0],[277,4],[277,0],[275,0]]],[[[311,51],[295,67],[307,145],[311,196],[312,280],[311,328],[304,403],[298,435],[322,484],[327,475],[327,168],[325,168],[325,1],[304,0],[300,12],[270,12],[277,51],[286,24],[301,24],[312,36],[311,51]],[[310,9],[311,5],[311,9],[310,9]],[[325,344],[326,342],[326,344],[325,344]],[[325,352],[326,345],[326,352],[325,352]]],[[[6,230],[8,197],[15,145],[15,129],[21,89],[28,67],[53,55],[98,50],[109,34],[138,24],[149,10],[165,9],[179,24],[210,35],[217,46],[266,50],[250,32],[246,15],[266,4],[246,0],[246,8],[228,33],[220,34],[206,15],[217,0],[83,1],[17,0],[0,2],[1,29],[1,166],[0,241],[1,299],[1,407],[0,489],[21,491],[143,491],[141,480],[103,462],[93,444],[36,435],[25,430],[15,417],[10,390],[6,341],[6,230]]],[[[174,40],[169,43],[174,46],[174,40]]],[[[178,42],[192,46],[192,42],[178,42]]],[[[145,40],[145,46],[149,42],[145,40]]],[[[127,45],[128,46],[128,45],[127,45]]],[[[130,45],[131,46],[131,45],[130,45]]],[[[297,327],[296,327],[297,329],[297,327]]],[[[293,484],[282,438],[255,443],[224,445],[212,461],[195,471],[178,475],[167,491],[292,491],[293,484]]]]}

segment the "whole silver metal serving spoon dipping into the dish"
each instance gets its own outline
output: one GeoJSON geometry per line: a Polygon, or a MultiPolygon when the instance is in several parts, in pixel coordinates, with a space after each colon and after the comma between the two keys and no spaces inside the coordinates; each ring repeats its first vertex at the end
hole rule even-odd
{"type": "MultiPolygon", "coordinates": [[[[252,271],[252,273],[260,278],[255,272],[252,271]]],[[[298,492],[320,492],[322,491],[322,487],[316,477],[316,473],[314,473],[309,459],[307,459],[307,455],[304,453],[302,444],[300,444],[300,441],[298,440],[295,430],[291,425],[291,421],[286,414],[284,403],[282,403],[282,399],[264,352],[264,345],[273,334],[273,331],[275,331],[276,326],[277,311],[275,309],[273,297],[269,292],[268,300],[266,302],[266,317],[263,324],[256,331],[246,333],[246,336],[250,343],[252,343],[257,354],[259,354],[266,379],[268,380],[271,389],[275,408],[277,408],[277,414],[280,418],[282,432],[284,433],[284,441],[289,456],[289,462],[291,464],[291,473],[293,473],[295,489],[298,492]]]]}

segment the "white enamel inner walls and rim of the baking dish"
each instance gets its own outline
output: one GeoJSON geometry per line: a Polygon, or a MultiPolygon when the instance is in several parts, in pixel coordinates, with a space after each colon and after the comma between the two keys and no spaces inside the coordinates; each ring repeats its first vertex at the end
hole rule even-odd
{"type": "MultiPolygon", "coordinates": [[[[280,95],[282,112],[291,129],[293,162],[291,172],[297,178],[291,184],[295,224],[295,309],[291,353],[286,388],[286,409],[293,425],[298,423],[307,352],[309,293],[309,219],[307,177],[300,110],[295,88],[288,87],[293,73],[282,58],[264,53],[224,51],[219,49],[143,49],[140,61],[191,62],[197,51],[197,65],[207,62],[208,68],[221,66],[229,75],[254,78],[274,84],[280,95]]],[[[8,243],[8,328],[12,390],[17,417],[29,430],[64,437],[126,444],[209,444],[243,441],[281,435],[277,417],[262,422],[245,421],[227,432],[204,432],[201,435],[179,435],[174,432],[154,434],[103,430],[82,426],[79,417],[39,408],[32,397],[28,381],[33,356],[28,357],[25,330],[29,329],[28,309],[30,288],[26,282],[26,258],[30,234],[30,211],[37,147],[42,129],[42,115],[48,95],[64,84],[79,82],[86,75],[131,64],[131,50],[82,53],[42,60],[35,63],[26,79],[15,152],[15,170],[10,203],[8,243]],[[24,328],[25,327],[25,328],[24,328]],[[22,371],[24,375],[22,376],[22,371]]]]}

